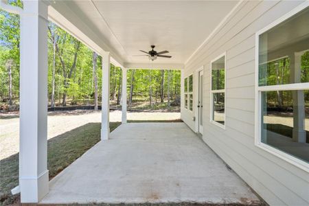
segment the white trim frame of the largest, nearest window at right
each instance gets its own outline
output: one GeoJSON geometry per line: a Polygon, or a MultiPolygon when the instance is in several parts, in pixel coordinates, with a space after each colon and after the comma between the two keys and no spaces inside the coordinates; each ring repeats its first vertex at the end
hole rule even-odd
{"type": "Polygon", "coordinates": [[[264,32],[270,30],[271,28],[275,27],[279,23],[282,23],[286,19],[290,18],[291,16],[297,14],[298,12],[301,12],[301,10],[304,10],[309,6],[309,1],[305,1],[304,3],[301,3],[296,8],[291,10],[290,12],[284,14],[284,16],[280,17],[276,21],[273,21],[273,23],[267,25],[266,27],[262,28],[262,30],[259,30],[255,33],[255,146],[258,146],[258,148],[262,148],[262,150],[265,150],[266,152],[271,153],[272,155],[275,155],[276,157],[279,157],[281,159],[284,159],[288,163],[291,163],[298,168],[301,168],[302,170],[305,170],[306,172],[309,172],[309,164],[305,161],[301,161],[300,159],[297,159],[296,157],[293,157],[292,155],[288,155],[286,152],[282,152],[281,150],[278,150],[276,148],[273,148],[272,146],[268,146],[267,144],[262,143],[261,141],[261,93],[262,91],[279,91],[279,90],[302,90],[302,89],[309,89],[309,83],[295,83],[295,84],[282,84],[282,85],[272,85],[272,86],[262,86],[259,87],[259,36],[260,34],[263,34],[264,32]]]}

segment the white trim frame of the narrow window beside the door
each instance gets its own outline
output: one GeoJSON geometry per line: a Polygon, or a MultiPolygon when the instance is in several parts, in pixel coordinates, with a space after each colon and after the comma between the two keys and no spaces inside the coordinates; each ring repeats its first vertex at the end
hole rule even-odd
{"type": "Polygon", "coordinates": [[[220,128],[224,129],[225,130],[225,125],[226,125],[226,110],[227,110],[227,52],[224,52],[223,54],[220,54],[219,56],[217,56],[216,58],[214,58],[214,60],[211,60],[210,62],[210,119],[209,119],[209,122],[211,124],[214,124],[216,126],[219,126],[220,128]],[[218,89],[218,90],[211,90],[211,87],[212,87],[212,62],[215,62],[216,60],[218,60],[219,58],[222,58],[222,56],[225,56],[225,89],[218,89]],[[214,104],[213,104],[213,93],[225,93],[225,117],[224,117],[224,120],[225,120],[225,124],[222,125],[216,121],[214,121],[214,115],[213,115],[213,109],[214,109],[214,104]]]}

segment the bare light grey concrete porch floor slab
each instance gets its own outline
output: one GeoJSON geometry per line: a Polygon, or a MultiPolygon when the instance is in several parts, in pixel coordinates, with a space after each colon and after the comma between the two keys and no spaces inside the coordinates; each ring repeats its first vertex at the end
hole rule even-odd
{"type": "Polygon", "coordinates": [[[49,190],[41,203],[260,203],[184,123],[122,124],[49,190]]]}

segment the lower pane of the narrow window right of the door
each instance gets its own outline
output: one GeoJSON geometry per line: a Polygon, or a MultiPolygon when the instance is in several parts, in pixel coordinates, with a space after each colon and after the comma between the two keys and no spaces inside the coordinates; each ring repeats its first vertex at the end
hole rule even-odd
{"type": "Polygon", "coordinates": [[[225,124],[225,93],[213,93],[213,119],[215,122],[225,124]]]}

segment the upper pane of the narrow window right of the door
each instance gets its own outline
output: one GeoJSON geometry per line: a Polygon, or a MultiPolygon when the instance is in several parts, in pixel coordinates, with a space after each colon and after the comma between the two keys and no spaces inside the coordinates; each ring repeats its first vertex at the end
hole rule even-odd
{"type": "Polygon", "coordinates": [[[225,89],[225,56],[211,63],[211,89],[225,89]]]}

